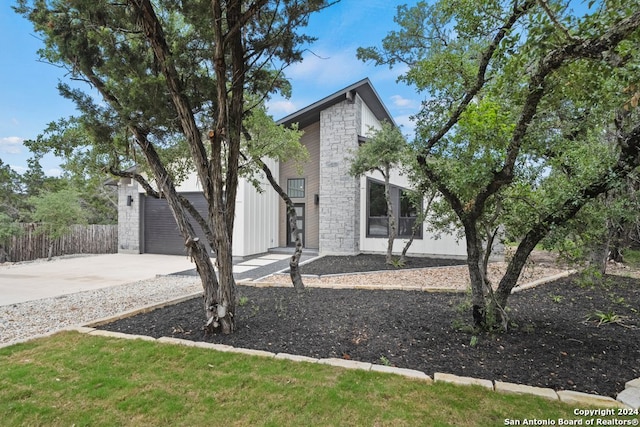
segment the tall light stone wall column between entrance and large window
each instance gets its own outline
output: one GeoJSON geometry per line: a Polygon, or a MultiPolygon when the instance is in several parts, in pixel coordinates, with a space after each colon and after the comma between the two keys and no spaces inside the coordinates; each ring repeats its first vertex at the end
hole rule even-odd
{"type": "Polygon", "coordinates": [[[320,222],[322,254],[360,252],[360,179],[349,175],[358,148],[362,100],[346,99],[320,113],[320,222]]]}

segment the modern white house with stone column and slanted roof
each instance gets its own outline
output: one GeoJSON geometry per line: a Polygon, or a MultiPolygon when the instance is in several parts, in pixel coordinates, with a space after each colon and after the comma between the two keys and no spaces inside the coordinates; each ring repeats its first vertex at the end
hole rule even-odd
{"type": "MultiPolygon", "coordinates": [[[[350,160],[370,129],[383,121],[393,123],[389,111],[369,79],[361,80],[323,98],[278,123],[298,123],[302,144],[309,151],[303,165],[269,162],[274,176],[296,205],[298,228],[306,248],[320,254],[384,252],[387,245],[386,205],[382,176],[354,178],[350,160]]],[[[262,180],[259,193],[241,180],[236,200],[233,255],[246,257],[292,244],[284,203],[262,180]]],[[[391,180],[398,224],[396,249],[402,250],[411,234],[416,211],[408,203],[409,182],[395,173],[391,180]]],[[[164,200],[144,195],[135,182],[119,186],[119,251],[133,253],[185,253],[184,242],[164,200]]],[[[206,212],[195,174],[178,191],[206,212]]],[[[196,227],[197,228],[197,227],[196,227]]],[[[436,238],[423,226],[410,254],[464,257],[464,242],[453,236],[436,238]]]]}

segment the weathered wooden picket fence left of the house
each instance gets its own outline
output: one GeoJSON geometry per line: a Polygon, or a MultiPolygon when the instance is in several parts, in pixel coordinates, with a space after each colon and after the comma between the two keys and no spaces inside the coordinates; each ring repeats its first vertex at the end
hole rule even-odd
{"type": "MultiPolygon", "coordinates": [[[[47,258],[51,239],[37,232],[38,224],[20,224],[20,228],[21,233],[17,236],[0,242],[0,256],[4,248],[7,261],[47,258]]],[[[69,234],[54,240],[52,255],[112,254],[117,251],[117,225],[74,225],[69,234]]]]}

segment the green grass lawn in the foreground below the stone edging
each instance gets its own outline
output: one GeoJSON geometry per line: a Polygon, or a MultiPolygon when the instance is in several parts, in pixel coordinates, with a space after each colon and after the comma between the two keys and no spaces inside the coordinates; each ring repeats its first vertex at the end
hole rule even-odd
{"type": "Polygon", "coordinates": [[[573,407],[207,349],[62,332],[0,349],[3,426],[490,426],[573,407]]]}

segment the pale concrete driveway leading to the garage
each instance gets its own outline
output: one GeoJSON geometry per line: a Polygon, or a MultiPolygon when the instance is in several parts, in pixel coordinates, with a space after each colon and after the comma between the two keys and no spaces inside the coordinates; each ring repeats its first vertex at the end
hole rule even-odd
{"type": "Polygon", "coordinates": [[[0,265],[0,306],[122,285],[195,268],[186,256],[88,255],[0,265]]]}

